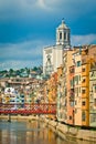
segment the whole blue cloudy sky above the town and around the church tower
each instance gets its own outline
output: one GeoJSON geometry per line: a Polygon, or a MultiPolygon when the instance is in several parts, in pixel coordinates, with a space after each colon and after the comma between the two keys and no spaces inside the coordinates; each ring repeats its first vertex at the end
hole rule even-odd
{"type": "Polygon", "coordinates": [[[71,44],[96,44],[96,0],[0,0],[0,70],[43,63],[64,18],[71,44]]]}

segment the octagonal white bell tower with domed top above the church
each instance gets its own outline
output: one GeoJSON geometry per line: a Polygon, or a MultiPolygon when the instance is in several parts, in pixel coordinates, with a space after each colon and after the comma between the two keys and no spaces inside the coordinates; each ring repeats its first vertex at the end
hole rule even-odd
{"type": "Polygon", "coordinates": [[[64,49],[71,48],[70,28],[65,24],[64,19],[56,28],[56,45],[64,45],[64,49]]]}

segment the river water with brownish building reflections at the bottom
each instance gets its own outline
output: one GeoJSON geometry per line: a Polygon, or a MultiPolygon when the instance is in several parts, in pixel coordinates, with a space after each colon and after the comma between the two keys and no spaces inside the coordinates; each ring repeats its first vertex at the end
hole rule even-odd
{"type": "Polygon", "coordinates": [[[39,121],[1,121],[0,144],[96,144],[95,142],[64,138],[39,121]]]}

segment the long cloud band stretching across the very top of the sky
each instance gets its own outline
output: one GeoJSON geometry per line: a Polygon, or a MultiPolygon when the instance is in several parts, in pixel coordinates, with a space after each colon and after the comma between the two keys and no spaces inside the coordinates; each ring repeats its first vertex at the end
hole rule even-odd
{"type": "MultiPolygon", "coordinates": [[[[41,17],[67,18],[74,21],[89,13],[96,13],[96,0],[1,0],[0,20],[24,19],[34,20],[41,17]]],[[[44,20],[45,20],[44,19],[44,20]]]]}

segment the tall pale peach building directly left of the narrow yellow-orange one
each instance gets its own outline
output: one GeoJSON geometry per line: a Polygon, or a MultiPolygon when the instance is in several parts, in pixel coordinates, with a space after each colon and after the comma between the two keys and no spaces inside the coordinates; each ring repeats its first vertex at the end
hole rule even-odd
{"type": "Polygon", "coordinates": [[[76,48],[73,53],[74,61],[74,125],[82,125],[82,53],[76,48]],[[78,119],[79,117],[79,119],[78,119]]]}

